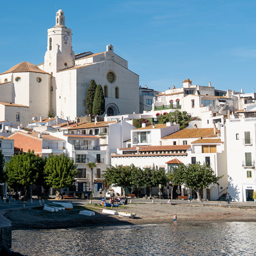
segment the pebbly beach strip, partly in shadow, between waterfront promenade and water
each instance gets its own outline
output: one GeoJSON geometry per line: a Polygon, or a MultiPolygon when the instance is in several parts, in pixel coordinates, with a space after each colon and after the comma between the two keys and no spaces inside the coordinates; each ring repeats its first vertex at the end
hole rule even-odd
{"type": "Polygon", "coordinates": [[[152,204],[132,203],[119,206],[117,211],[136,214],[129,219],[118,215],[102,214],[102,207],[94,204],[75,205],[72,210],[48,212],[42,207],[8,210],[4,216],[12,222],[12,229],[56,229],[91,226],[141,225],[152,223],[172,223],[177,214],[180,223],[216,221],[256,221],[256,205],[227,204],[152,204]],[[95,211],[95,216],[79,215],[83,209],[95,211]]]}

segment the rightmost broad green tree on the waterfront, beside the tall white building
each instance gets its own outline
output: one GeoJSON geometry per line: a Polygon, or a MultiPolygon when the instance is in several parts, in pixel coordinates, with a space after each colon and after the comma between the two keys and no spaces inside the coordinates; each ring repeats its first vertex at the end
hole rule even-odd
{"type": "Polygon", "coordinates": [[[176,185],[185,185],[194,189],[197,193],[198,200],[200,198],[200,191],[206,188],[210,184],[218,184],[218,180],[223,176],[216,176],[214,170],[209,164],[196,164],[179,165],[179,167],[173,172],[173,180],[176,185]]]}

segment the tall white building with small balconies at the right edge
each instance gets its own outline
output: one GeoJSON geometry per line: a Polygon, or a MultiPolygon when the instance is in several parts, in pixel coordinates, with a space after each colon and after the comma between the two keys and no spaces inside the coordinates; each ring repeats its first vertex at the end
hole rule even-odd
{"type": "Polygon", "coordinates": [[[224,128],[228,193],[234,201],[253,201],[252,193],[256,190],[256,118],[227,119],[224,128]]]}

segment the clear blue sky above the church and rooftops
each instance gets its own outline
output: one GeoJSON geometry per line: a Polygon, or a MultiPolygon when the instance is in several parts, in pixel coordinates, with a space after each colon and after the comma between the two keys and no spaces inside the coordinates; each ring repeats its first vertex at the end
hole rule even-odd
{"type": "Polygon", "coordinates": [[[220,90],[256,89],[255,0],[1,1],[0,73],[44,62],[55,6],[75,53],[112,44],[142,87],[165,91],[189,78],[220,90]]]}

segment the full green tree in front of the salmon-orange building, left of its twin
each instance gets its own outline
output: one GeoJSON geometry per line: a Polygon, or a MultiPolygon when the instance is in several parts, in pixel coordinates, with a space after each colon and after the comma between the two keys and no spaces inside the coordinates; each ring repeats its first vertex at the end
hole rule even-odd
{"type": "Polygon", "coordinates": [[[11,157],[6,162],[5,169],[8,175],[7,184],[11,188],[26,188],[26,199],[30,198],[30,185],[44,184],[42,176],[44,163],[42,158],[34,154],[34,151],[28,151],[11,157]]]}

